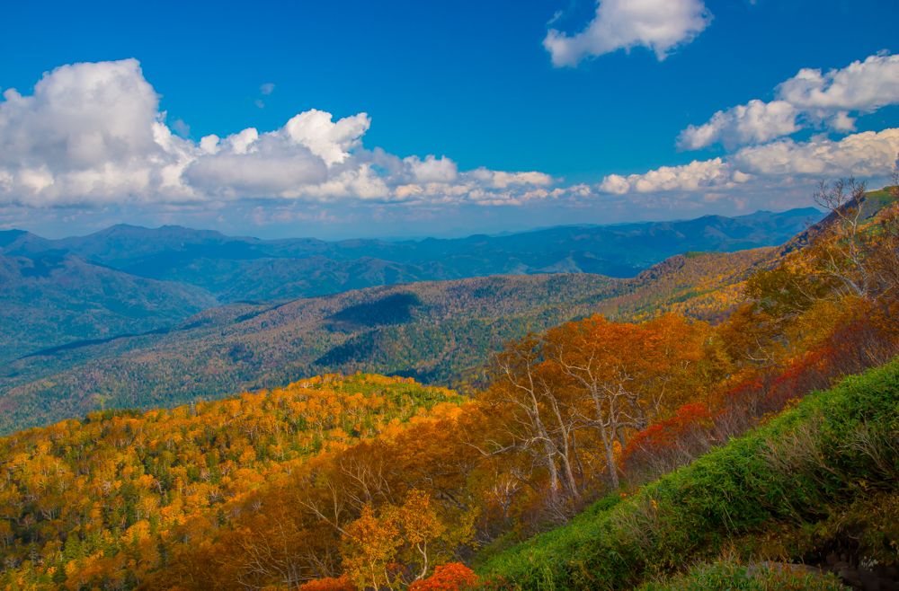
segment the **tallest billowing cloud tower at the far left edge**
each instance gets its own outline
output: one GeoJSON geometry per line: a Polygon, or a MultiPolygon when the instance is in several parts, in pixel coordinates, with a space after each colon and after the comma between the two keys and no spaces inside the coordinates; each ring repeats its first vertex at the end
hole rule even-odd
{"type": "Polygon", "coordinates": [[[140,192],[151,184],[144,162],[167,154],[155,141],[158,97],[138,62],[62,66],[0,102],[0,170],[13,198],[52,205],[140,192]]]}

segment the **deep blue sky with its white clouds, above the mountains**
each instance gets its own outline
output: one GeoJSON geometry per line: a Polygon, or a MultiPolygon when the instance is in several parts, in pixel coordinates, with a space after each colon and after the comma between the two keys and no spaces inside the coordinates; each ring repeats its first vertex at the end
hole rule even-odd
{"type": "Polygon", "coordinates": [[[24,98],[0,101],[0,227],[45,235],[118,222],[441,235],[738,215],[805,206],[818,178],[856,172],[882,184],[895,154],[887,164],[869,153],[899,146],[883,135],[899,128],[899,38],[886,24],[899,16],[895,2],[19,3],[5,12],[15,26],[4,32],[0,90],[24,98]],[[658,13],[661,24],[640,22],[658,13]],[[549,30],[563,40],[554,52],[549,30]],[[572,41],[581,31],[595,34],[572,41]],[[129,58],[139,66],[103,66],[129,58]],[[847,74],[835,102],[795,82],[802,68],[820,69],[826,94],[842,84],[828,71],[856,61],[868,69],[847,74]],[[94,67],[35,92],[45,72],[74,64],[94,67]],[[112,123],[66,90],[104,72],[120,80],[101,105],[112,123]],[[752,104],[761,119],[729,110],[752,104]],[[328,132],[330,147],[296,126],[285,135],[310,110],[346,118],[328,132]],[[163,111],[182,144],[140,136],[163,111]],[[711,127],[685,131],[718,111],[711,127]],[[124,147],[123,126],[137,129],[124,147]],[[258,138],[249,148],[227,140],[247,128],[258,138]],[[213,134],[215,153],[200,150],[213,134]],[[90,137],[106,144],[88,157],[90,137]],[[63,145],[82,155],[60,157],[63,145]],[[337,155],[322,155],[329,149],[337,155]],[[832,157],[806,162],[822,151],[832,157]],[[428,154],[437,160],[423,169],[428,154]],[[165,172],[160,158],[181,168],[165,172]],[[660,169],[674,180],[658,181],[660,169]],[[165,174],[180,176],[153,180],[165,174]]]}

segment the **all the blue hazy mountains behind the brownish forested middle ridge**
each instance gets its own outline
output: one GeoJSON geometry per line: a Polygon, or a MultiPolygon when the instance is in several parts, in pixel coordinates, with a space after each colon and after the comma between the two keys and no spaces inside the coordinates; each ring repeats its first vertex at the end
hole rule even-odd
{"type": "Polygon", "coordinates": [[[81,340],[171,327],[210,306],[493,275],[635,277],[685,251],[787,242],[814,208],[628,225],[566,225],[390,243],[260,240],[166,225],[48,239],[0,232],[0,363],[81,340]]]}

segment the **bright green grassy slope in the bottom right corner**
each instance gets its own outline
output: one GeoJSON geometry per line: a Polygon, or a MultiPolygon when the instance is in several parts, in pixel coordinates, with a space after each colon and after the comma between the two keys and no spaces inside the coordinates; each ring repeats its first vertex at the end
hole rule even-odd
{"type": "Polygon", "coordinates": [[[481,574],[515,589],[625,589],[725,550],[818,560],[853,529],[868,555],[895,562],[897,429],[899,360],[809,395],[614,507],[601,501],[481,574]]]}

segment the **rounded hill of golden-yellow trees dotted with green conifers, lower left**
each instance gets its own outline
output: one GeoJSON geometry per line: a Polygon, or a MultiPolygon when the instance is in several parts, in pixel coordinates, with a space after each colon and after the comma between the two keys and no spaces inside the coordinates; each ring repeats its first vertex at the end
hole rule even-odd
{"type": "Polygon", "coordinates": [[[211,534],[245,503],[258,513],[254,491],[279,488],[307,462],[447,419],[462,403],[411,378],[325,375],[173,410],[98,411],[0,439],[0,580],[133,588],[169,560],[156,541],[211,534]],[[22,560],[31,570],[10,570],[22,560]]]}

